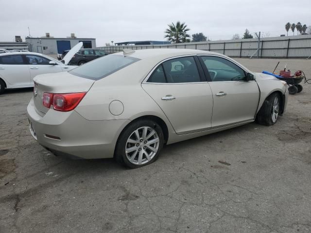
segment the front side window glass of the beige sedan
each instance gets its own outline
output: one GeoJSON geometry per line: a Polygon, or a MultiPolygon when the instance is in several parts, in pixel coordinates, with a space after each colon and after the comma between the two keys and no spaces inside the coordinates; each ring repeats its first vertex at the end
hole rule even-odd
{"type": "Polygon", "coordinates": [[[225,58],[202,56],[202,60],[212,82],[246,80],[244,70],[225,58]]]}

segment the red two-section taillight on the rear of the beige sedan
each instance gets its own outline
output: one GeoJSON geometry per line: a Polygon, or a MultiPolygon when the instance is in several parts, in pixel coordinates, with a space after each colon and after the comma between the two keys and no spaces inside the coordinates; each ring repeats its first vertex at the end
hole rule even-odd
{"type": "MultiPolygon", "coordinates": [[[[43,94],[43,105],[47,108],[53,106],[54,110],[68,112],[73,110],[86,95],[86,92],[79,93],[67,93],[67,94],[54,94],[54,93],[44,93],[43,94]],[[45,105],[45,95],[48,97],[50,95],[49,105],[45,105]]],[[[48,100],[48,98],[46,99],[48,100]]]]}

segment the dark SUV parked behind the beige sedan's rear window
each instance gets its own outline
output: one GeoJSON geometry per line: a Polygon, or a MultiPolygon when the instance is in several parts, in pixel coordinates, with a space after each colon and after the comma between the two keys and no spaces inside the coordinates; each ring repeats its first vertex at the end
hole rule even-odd
{"type": "Polygon", "coordinates": [[[74,54],[69,64],[81,66],[87,62],[90,62],[99,57],[103,57],[105,55],[108,55],[108,53],[103,50],[82,49],[82,50],[79,50],[76,54],[74,54]]]}

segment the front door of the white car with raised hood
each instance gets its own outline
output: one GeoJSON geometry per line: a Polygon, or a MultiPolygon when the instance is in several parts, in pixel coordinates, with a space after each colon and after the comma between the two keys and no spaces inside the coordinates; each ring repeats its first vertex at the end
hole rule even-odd
{"type": "Polygon", "coordinates": [[[34,54],[26,54],[26,60],[28,62],[28,68],[30,72],[30,81],[33,83],[33,79],[35,76],[39,74],[49,74],[49,73],[56,73],[56,72],[61,72],[62,67],[59,65],[50,65],[49,62],[51,61],[50,59],[39,56],[39,55],[34,55],[34,54]]]}

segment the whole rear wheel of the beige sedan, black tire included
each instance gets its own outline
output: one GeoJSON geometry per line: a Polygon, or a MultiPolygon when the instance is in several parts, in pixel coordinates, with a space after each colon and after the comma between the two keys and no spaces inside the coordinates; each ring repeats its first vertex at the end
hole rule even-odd
{"type": "Polygon", "coordinates": [[[138,120],[125,128],[119,136],[115,159],[130,168],[149,165],[158,158],[163,142],[163,131],[156,122],[138,120]],[[144,132],[146,136],[143,135],[144,132]]]}

